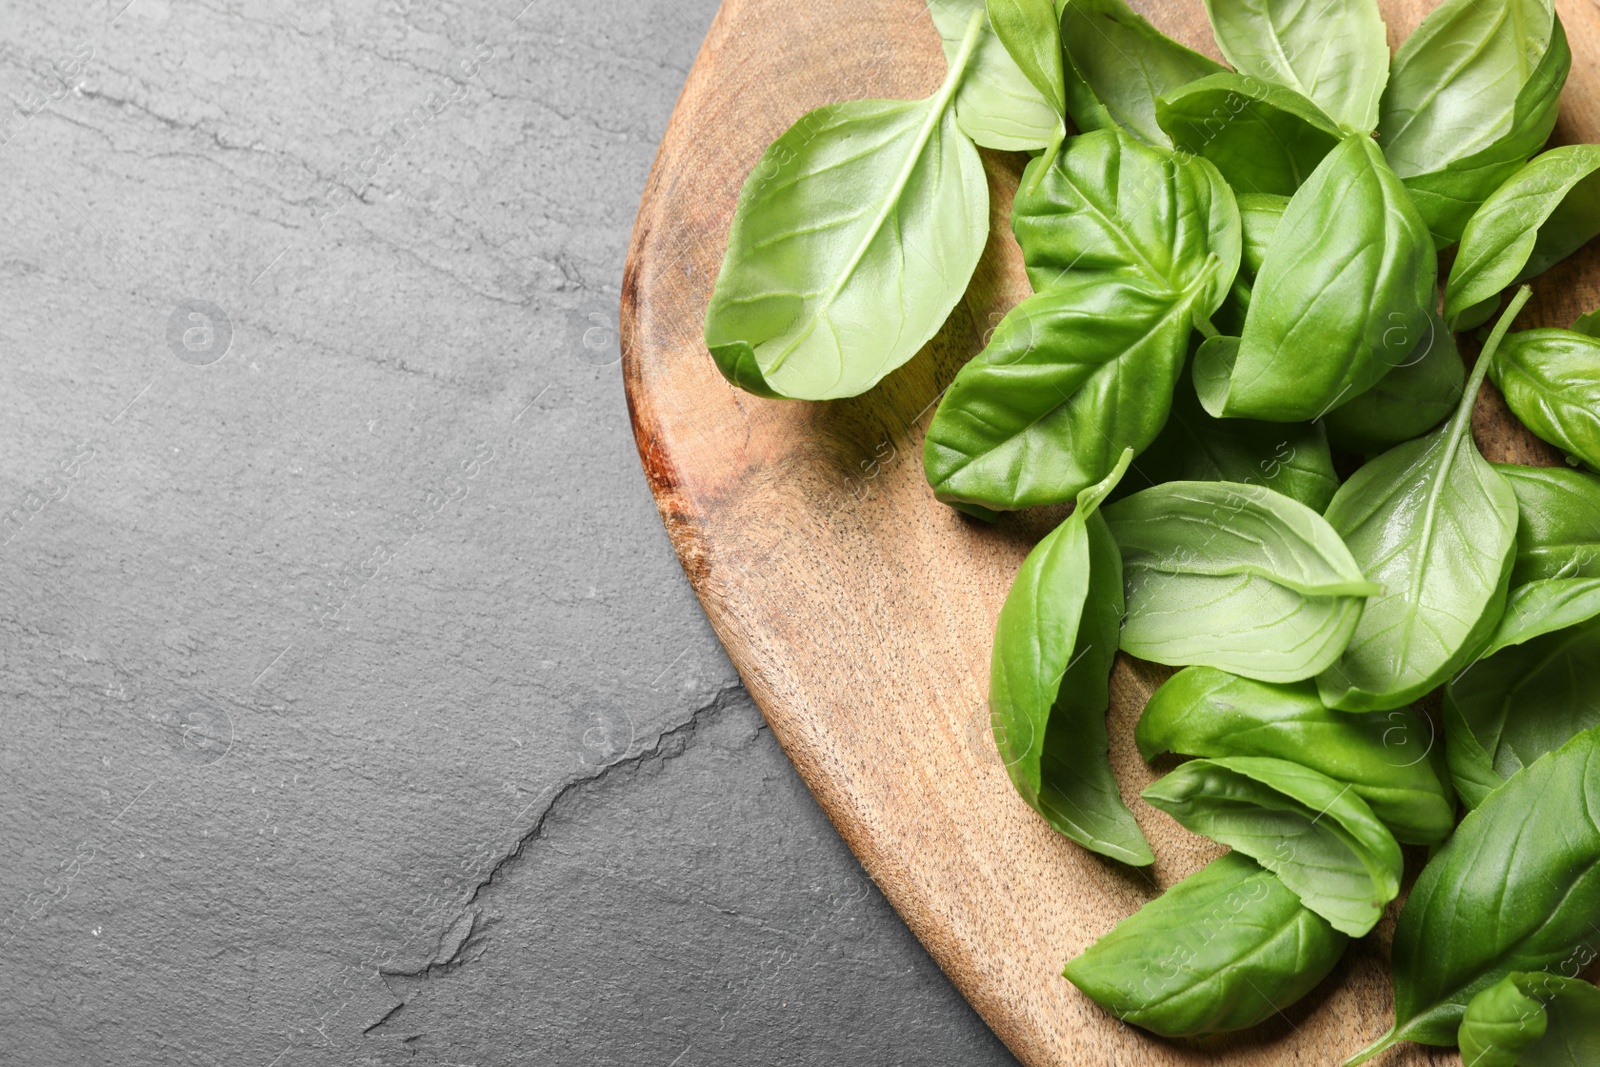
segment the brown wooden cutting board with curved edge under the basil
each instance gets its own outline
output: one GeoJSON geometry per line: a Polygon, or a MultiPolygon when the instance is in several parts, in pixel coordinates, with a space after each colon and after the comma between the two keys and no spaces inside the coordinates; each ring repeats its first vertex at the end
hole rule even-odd
{"type": "MultiPolygon", "coordinates": [[[[1216,56],[1198,0],[1134,6],[1216,56]]],[[[1384,3],[1390,45],[1430,6],[1384,3]]],[[[1600,141],[1600,11],[1579,0],[1560,11],[1573,74],[1555,142],[1600,141]]],[[[986,154],[994,227],[966,301],[870,394],[762,400],[728,386],[702,346],[728,221],[766,144],[821,104],[918,98],[942,75],[918,0],[725,0],[662,139],[622,283],[627,398],[661,518],[773,734],[1024,1064],[1336,1064],[1389,1027],[1395,909],[1317,992],[1229,1038],[1154,1038],[1061,977],[1067,958],[1219,849],[1138,798],[1155,774],[1133,725],[1162,669],[1120,662],[1110,712],[1112,758],[1158,857],[1152,869],[1053,832],[1011,789],[989,734],[995,614],[1059,514],[995,526],[957,515],[923,480],[922,442],[941,389],[1029,291],[1008,224],[1019,157],[986,154]]],[[[1571,323],[1600,304],[1597,282],[1590,248],[1536,283],[1522,325],[1571,323]]],[[[1558,461],[1485,394],[1475,430],[1491,459],[1558,461]]],[[[1411,1046],[1381,1062],[1459,1061],[1411,1046]]]]}

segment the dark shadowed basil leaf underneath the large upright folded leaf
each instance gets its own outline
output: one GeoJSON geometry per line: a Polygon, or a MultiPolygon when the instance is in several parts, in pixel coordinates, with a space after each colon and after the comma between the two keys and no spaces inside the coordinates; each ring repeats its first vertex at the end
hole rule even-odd
{"type": "Polygon", "coordinates": [[[1467,370],[1456,336],[1429,309],[1427,333],[1405,363],[1384,374],[1355,400],[1323,416],[1328,443],[1339,451],[1373,454],[1421,437],[1461,403],[1467,370]]]}

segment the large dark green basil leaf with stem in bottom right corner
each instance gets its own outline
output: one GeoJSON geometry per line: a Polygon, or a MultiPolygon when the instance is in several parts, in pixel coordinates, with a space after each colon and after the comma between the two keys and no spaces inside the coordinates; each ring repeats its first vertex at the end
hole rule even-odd
{"type": "Polygon", "coordinates": [[[1600,733],[1573,737],[1472,811],[1429,861],[1394,937],[1398,1041],[1451,1045],[1467,1003],[1514,971],[1573,974],[1600,950],[1600,733]]]}

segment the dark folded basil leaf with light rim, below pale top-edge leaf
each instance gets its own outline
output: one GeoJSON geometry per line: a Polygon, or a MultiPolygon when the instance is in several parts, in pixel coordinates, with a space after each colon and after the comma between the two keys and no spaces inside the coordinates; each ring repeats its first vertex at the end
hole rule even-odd
{"type": "Polygon", "coordinates": [[[1155,101],[1179,152],[1211,160],[1240,192],[1288,197],[1338,147],[1339,126],[1293,90],[1213,74],[1155,101]]]}

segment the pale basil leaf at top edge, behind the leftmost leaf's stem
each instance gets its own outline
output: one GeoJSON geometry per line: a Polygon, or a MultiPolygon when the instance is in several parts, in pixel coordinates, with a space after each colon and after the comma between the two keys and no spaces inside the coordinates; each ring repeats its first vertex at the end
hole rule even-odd
{"type": "MultiPolygon", "coordinates": [[[[1016,6],[1013,2],[1011,6],[1016,6]]],[[[1054,10],[1051,10],[1051,26],[1054,30],[1054,10]]],[[[974,13],[984,11],[984,0],[930,0],[928,14],[944,40],[944,59],[955,64],[962,53],[962,42],[966,38],[966,27],[974,13]]],[[[1010,26],[1010,24],[1008,24],[1010,26]]],[[[994,26],[994,16],[986,19],[978,37],[978,46],[968,62],[966,77],[955,93],[955,122],[968,138],[986,149],[1005,152],[1027,152],[1059,146],[1066,133],[1062,115],[1066,110],[1064,91],[1054,96],[1034,83],[1022,70],[1011,51],[1003,43],[1000,27],[994,26]]],[[[1056,69],[1059,72],[1061,50],[1051,40],[1050,48],[1056,53],[1056,69]]]]}

